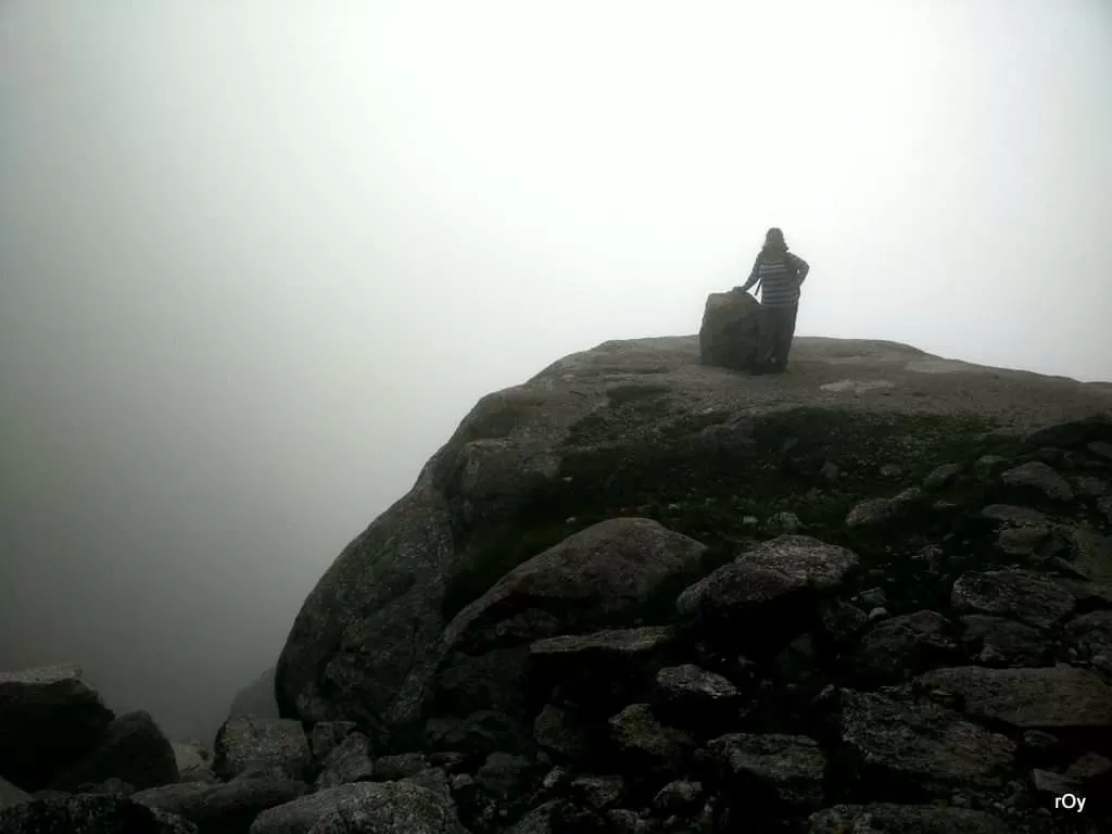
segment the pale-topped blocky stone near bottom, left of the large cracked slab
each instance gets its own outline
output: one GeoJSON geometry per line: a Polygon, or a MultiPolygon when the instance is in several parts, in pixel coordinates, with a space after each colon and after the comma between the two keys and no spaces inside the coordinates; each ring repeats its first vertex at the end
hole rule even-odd
{"type": "Polygon", "coordinates": [[[823,803],[826,756],[813,738],[732,733],[707,744],[709,759],[746,803],[814,810],[823,803]]]}

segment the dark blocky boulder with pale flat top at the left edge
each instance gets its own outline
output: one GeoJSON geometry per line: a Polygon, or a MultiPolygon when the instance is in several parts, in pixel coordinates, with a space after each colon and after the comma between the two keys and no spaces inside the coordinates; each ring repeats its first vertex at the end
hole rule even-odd
{"type": "Polygon", "coordinates": [[[0,672],[0,776],[46,787],[92,751],[112,712],[73,665],[0,672]]]}

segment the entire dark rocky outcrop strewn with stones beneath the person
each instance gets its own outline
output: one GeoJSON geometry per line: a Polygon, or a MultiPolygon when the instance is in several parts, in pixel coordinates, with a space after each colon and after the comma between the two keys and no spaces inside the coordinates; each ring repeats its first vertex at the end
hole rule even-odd
{"type": "Polygon", "coordinates": [[[1059,831],[1112,761],[1110,405],[886,342],[568,357],[345,550],[279,704],[319,787],[475,834],[1059,831]]]}

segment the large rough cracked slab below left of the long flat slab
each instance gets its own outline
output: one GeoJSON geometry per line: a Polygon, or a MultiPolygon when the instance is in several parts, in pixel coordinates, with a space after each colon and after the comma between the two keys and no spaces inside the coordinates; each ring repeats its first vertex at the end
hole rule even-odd
{"type": "Polygon", "coordinates": [[[1015,744],[935,705],[911,705],[876,693],[843,689],[840,737],[860,762],[861,780],[876,773],[907,792],[1002,784],[1015,744]]]}

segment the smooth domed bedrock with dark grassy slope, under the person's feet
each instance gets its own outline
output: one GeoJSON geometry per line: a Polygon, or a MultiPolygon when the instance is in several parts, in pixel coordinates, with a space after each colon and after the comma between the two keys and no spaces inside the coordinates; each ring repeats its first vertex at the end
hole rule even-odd
{"type": "Polygon", "coordinates": [[[810,516],[808,533],[841,529],[856,500],[894,494],[881,492],[884,464],[923,478],[993,429],[1011,429],[995,441],[1013,444],[1110,404],[1101,386],[884,341],[800,338],[775,378],[702,366],[694,337],[575,354],[484,397],[410,493],[339,555],[281,654],[281,713],[384,735],[415,724],[447,622],[594,522],[648,515],[712,552],[752,533],[745,515],[773,508],[810,516]],[[830,461],[843,476],[818,490],[830,461]]]}

